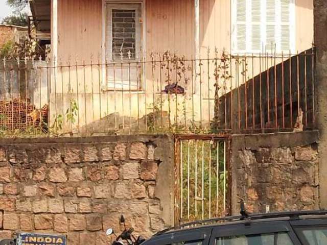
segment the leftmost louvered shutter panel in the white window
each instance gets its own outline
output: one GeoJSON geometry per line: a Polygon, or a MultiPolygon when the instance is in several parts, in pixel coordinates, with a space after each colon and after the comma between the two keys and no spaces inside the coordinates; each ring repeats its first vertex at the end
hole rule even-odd
{"type": "Polygon", "coordinates": [[[246,50],[246,0],[237,0],[237,50],[246,50]]]}

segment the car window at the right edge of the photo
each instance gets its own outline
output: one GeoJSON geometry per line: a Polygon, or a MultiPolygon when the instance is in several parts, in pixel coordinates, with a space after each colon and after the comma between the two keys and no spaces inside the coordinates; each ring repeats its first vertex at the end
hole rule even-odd
{"type": "Polygon", "coordinates": [[[303,243],[309,245],[327,244],[327,226],[298,229],[299,237],[303,243]]]}

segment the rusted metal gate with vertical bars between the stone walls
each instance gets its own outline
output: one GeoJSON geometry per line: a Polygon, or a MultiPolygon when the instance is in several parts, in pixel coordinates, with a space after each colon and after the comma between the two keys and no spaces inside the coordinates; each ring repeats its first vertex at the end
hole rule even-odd
{"type": "Polygon", "coordinates": [[[229,144],[223,135],[176,137],[176,225],[230,213],[229,144]]]}

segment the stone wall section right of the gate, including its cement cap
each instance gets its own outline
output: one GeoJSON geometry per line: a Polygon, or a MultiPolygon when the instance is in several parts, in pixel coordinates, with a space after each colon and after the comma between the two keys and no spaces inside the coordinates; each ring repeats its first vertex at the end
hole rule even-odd
{"type": "Polygon", "coordinates": [[[232,212],[319,208],[318,133],[233,136],[232,212]]]}

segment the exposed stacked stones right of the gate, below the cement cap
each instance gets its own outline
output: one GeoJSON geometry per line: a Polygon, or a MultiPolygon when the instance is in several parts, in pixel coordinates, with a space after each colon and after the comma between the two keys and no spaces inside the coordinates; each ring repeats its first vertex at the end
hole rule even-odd
{"type": "Polygon", "coordinates": [[[238,151],[238,200],[258,213],[319,208],[317,144],[238,151]]]}

